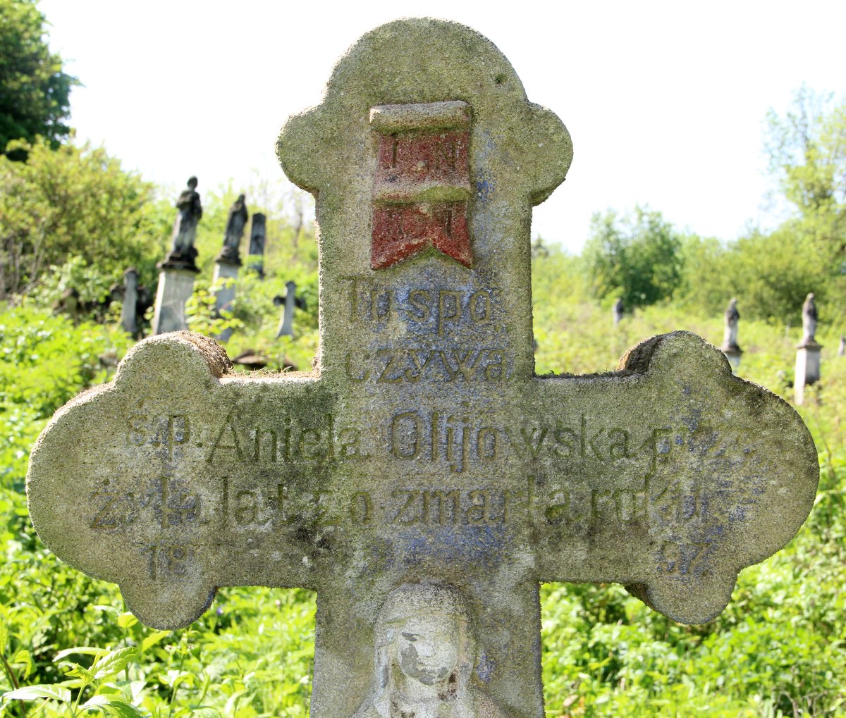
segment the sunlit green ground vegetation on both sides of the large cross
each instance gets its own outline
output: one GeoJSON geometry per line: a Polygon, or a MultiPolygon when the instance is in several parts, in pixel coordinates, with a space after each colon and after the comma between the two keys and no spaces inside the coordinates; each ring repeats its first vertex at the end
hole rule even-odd
{"type": "MultiPolygon", "coordinates": [[[[661,305],[627,316],[612,330],[606,307],[575,301],[584,290],[579,258],[551,249],[534,263],[539,372],[608,370],[641,338],[676,328],[712,342],[722,336],[720,315],[661,305]]],[[[307,287],[309,271],[294,265],[290,276],[307,287]]],[[[259,304],[283,290],[283,277],[247,282],[244,296],[251,302],[259,293],[259,304]]],[[[261,343],[262,332],[274,332],[266,323],[275,324],[278,308],[257,315],[264,318],[244,326],[239,341],[261,343]]],[[[298,317],[304,333],[285,343],[286,352],[301,343],[313,350],[307,332],[316,318],[310,312],[298,317]]],[[[305,716],[313,594],[225,589],[214,610],[190,628],[156,631],[125,611],[115,586],[63,565],[37,540],[23,496],[29,449],[54,408],[106,378],[95,357],[110,350],[122,354],[125,340],[27,305],[0,314],[0,326],[0,352],[8,359],[0,362],[5,715],[305,716]]],[[[779,372],[791,371],[798,338],[798,327],[785,336],[765,322],[744,319],[740,374],[786,392],[779,372]]],[[[543,586],[550,718],[843,712],[846,425],[840,417],[846,363],[833,356],[831,328],[823,326],[820,339],[823,403],[800,409],[820,447],[822,467],[821,491],[805,528],[786,550],[744,570],[727,611],[704,626],[675,624],[615,585],[543,586]]]]}

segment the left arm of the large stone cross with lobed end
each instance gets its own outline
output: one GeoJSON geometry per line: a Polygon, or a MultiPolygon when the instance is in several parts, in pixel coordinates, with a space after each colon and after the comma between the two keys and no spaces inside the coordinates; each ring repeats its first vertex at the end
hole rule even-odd
{"type": "Polygon", "coordinates": [[[332,398],[310,375],[230,366],[200,335],[146,339],[31,454],[41,539],[157,628],[199,617],[218,586],[310,587],[320,572],[332,398]]]}

